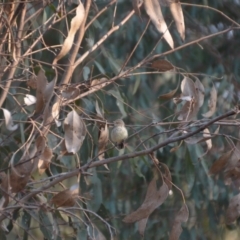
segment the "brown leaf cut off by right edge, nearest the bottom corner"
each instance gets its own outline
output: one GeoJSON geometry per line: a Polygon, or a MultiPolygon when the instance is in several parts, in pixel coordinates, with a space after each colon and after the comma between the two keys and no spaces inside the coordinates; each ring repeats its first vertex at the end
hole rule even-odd
{"type": "Polygon", "coordinates": [[[226,224],[231,224],[240,216],[240,193],[234,196],[226,211],[226,224]]]}

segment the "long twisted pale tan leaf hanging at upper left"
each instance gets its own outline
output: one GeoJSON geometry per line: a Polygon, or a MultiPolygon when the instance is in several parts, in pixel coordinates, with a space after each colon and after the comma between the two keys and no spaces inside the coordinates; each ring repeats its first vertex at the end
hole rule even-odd
{"type": "Polygon", "coordinates": [[[72,48],[75,34],[77,30],[81,27],[84,17],[85,17],[85,9],[82,2],[80,2],[80,4],[76,9],[76,16],[71,21],[71,27],[70,27],[68,36],[62,45],[62,49],[60,53],[53,60],[53,65],[55,65],[59,59],[63,58],[72,48]]]}

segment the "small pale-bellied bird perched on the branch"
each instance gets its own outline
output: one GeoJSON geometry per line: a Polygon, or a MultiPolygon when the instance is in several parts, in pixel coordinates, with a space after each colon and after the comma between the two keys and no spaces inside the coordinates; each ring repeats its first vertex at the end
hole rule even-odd
{"type": "Polygon", "coordinates": [[[118,149],[124,148],[124,141],[128,137],[128,131],[122,119],[117,119],[114,123],[114,128],[111,131],[111,139],[116,144],[118,149]]]}

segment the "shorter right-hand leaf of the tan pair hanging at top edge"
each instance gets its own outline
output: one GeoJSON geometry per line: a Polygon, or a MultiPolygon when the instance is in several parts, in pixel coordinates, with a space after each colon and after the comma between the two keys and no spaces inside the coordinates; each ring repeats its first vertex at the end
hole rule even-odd
{"type": "Polygon", "coordinates": [[[179,1],[175,1],[170,4],[170,11],[173,15],[173,19],[176,23],[177,30],[181,39],[185,40],[185,24],[184,24],[184,16],[182,12],[181,3],[179,1]]]}

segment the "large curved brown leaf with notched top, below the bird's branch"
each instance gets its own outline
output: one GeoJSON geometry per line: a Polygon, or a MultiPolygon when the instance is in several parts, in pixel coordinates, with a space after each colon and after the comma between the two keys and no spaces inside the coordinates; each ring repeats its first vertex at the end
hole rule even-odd
{"type": "Polygon", "coordinates": [[[143,204],[135,211],[126,216],[123,221],[134,223],[147,218],[156,208],[158,208],[168,196],[168,186],[164,182],[160,189],[157,189],[156,180],[153,179],[149,185],[143,204]]]}

